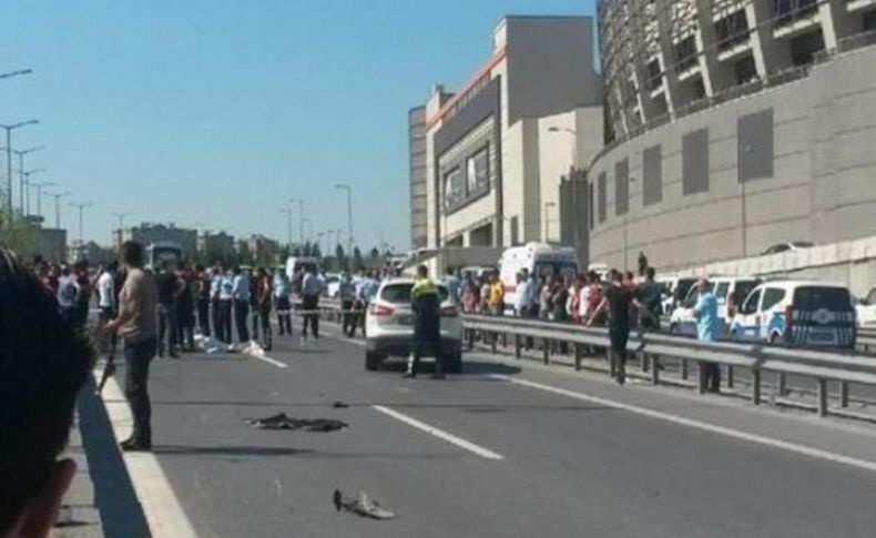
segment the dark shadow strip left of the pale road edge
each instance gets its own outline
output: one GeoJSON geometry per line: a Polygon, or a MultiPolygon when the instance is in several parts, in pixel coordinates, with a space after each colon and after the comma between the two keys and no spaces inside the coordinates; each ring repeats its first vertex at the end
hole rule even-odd
{"type": "Polygon", "coordinates": [[[94,486],[94,506],[99,508],[103,532],[105,536],[149,537],[143,509],[115,446],[110,417],[94,389],[93,379],[89,379],[79,395],[77,408],[82,446],[94,486]]]}

